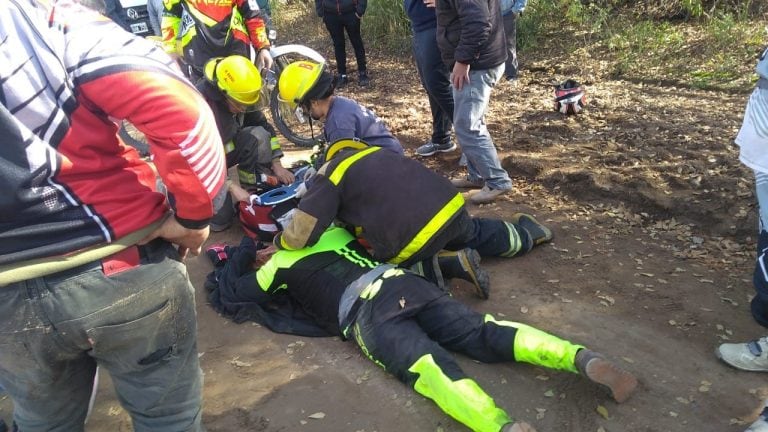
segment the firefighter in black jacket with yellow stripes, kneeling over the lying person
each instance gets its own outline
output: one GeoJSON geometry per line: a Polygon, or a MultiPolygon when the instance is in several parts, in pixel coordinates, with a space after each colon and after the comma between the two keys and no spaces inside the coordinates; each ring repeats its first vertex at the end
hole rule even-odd
{"type": "Polygon", "coordinates": [[[275,246],[312,246],[338,219],[365,238],[378,261],[419,273],[438,267],[434,257],[441,250],[456,254],[469,248],[474,251],[462,261],[474,269],[470,281],[478,294],[488,298],[490,279],[479,269],[480,256],[520,256],[552,240],[552,232],[528,214],[517,213],[510,221],[471,217],[448,179],[418,161],[380,150],[352,140],[328,146],[318,161],[327,162],[310,179],[275,246]]]}

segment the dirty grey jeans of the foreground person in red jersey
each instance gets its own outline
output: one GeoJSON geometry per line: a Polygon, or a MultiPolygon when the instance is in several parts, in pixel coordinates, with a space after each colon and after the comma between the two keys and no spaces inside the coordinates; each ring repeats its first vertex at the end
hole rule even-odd
{"type": "Polygon", "coordinates": [[[83,431],[96,365],[136,431],[202,431],[194,289],[172,245],[0,287],[0,385],[22,432],[83,431]]]}

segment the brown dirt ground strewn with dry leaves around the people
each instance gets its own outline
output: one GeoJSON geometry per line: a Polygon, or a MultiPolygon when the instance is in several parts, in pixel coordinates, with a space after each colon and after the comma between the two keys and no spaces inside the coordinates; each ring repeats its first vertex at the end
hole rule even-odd
{"type": "MultiPolygon", "coordinates": [[[[330,54],[328,47],[326,54],[330,54]]],[[[413,66],[371,56],[373,85],[341,92],[375,109],[409,154],[431,118],[413,66]]],[[[535,214],[551,244],[514,259],[486,259],[488,301],[478,311],[583,343],[635,373],[626,403],[572,374],[524,364],[459,361],[513,417],[539,431],[742,431],[768,396],[764,375],[720,363],[723,341],[762,336],[750,317],[756,233],[751,173],[732,144],[748,92],[702,91],[612,80],[590,69],[523,61],[517,85],[494,90],[488,126],[514,181],[474,215],[535,214]],[[551,84],[575,77],[588,107],[551,108],[551,84]]],[[[453,174],[459,154],[424,163],[453,174]]],[[[239,227],[209,242],[237,242],[239,227]]],[[[205,302],[204,257],[188,267],[198,294],[199,352],[209,431],[462,431],[338,338],[276,335],[234,324],[205,302]]],[[[129,431],[102,377],[88,431],[129,431]]],[[[0,396],[0,417],[11,404],[0,396]]]]}

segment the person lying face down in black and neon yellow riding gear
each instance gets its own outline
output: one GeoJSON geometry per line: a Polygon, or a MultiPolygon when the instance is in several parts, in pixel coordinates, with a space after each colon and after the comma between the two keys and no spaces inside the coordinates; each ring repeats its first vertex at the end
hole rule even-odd
{"type": "Polygon", "coordinates": [[[206,282],[209,301],[220,313],[279,333],[354,339],[369,359],[475,431],[534,429],[496,406],[449,351],[580,373],[617,402],[637,385],[582,345],[477,313],[424,278],[376,262],[342,228],[297,251],[246,237],[239,247],[209,248],[206,255],[215,265],[206,282]]]}

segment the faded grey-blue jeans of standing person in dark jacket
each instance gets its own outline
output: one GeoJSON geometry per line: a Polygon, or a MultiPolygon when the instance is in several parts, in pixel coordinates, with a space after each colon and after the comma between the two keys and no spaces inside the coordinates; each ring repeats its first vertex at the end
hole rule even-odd
{"type": "Polygon", "coordinates": [[[461,90],[453,87],[453,128],[467,157],[470,180],[483,180],[491,189],[510,190],[512,180],[501,167],[493,139],[485,125],[485,112],[491,90],[504,73],[504,63],[491,68],[469,71],[469,83],[461,90]]]}

